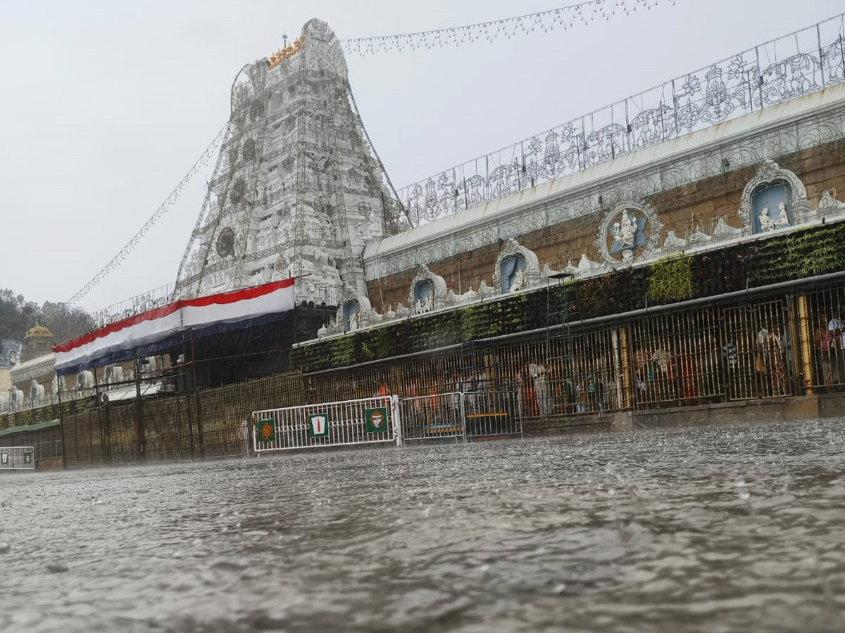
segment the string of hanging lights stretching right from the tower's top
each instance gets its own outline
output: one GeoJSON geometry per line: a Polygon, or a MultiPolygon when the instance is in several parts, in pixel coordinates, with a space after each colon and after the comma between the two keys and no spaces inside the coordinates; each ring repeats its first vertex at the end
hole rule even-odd
{"type": "Polygon", "coordinates": [[[628,15],[638,8],[651,9],[661,2],[674,5],[677,0],[587,0],[587,2],[551,8],[536,14],[454,26],[449,29],[357,37],[341,40],[341,45],[346,53],[365,57],[383,52],[461,46],[480,40],[492,42],[501,37],[510,39],[517,35],[530,35],[535,31],[548,33],[553,29],[566,30],[581,24],[586,26],[597,19],[611,19],[618,13],[628,15]]]}

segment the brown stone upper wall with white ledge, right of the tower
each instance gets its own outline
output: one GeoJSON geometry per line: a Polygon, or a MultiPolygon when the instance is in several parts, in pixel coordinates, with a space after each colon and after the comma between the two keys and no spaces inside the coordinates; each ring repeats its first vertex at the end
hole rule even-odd
{"type": "Polygon", "coordinates": [[[842,200],[843,121],[845,87],[840,86],[390,237],[365,253],[373,309],[384,314],[399,303],[407,305],[420,263],[457,295],[477,289],[482,280],[492,286],[496,259],[511,237],[537,255],[541,268],[576,266],[583,254],[606,264],[602,231],[608,214],[627,201],[653,208],[662,225],[657,225],[658,247],[635,262],[662,254],[669,231],[684,238],[697,229],[706,237],[719,219],[737,230],[734,237],[751,237],[740,206],[744,188],[766,160],[797,176],[808,208],[818,208],[823,192],[842,200]]]}

